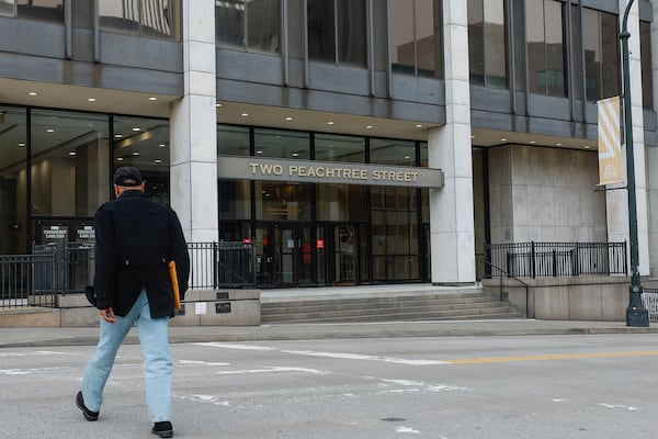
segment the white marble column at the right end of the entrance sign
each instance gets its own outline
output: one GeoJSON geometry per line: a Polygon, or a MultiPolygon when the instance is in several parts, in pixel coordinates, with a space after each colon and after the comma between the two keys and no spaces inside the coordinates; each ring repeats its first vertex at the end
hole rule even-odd
{"type": "Polygon", "coordinates": [[[432,283],[475,282],[467,2],[443,2],[445,125],[428,134],[429,166],[445,175],[430,190],[432,283]]]}

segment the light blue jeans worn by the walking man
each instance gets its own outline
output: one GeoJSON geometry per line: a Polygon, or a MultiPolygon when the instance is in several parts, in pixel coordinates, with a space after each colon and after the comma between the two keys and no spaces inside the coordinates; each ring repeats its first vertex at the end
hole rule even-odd
{"type": "Polygon", "coordinates": [[[169,350],[169,318],[151,318],[146,291],[125,317],[116,316],[116,323],[101,318],[101,334],[84,374],[82,397],[92,412],[100,412],[103,389],[112,371],[118,347],[136,324],[144,353],[146,405],[154,423],[171,420],[171,351],[169,350]]]}

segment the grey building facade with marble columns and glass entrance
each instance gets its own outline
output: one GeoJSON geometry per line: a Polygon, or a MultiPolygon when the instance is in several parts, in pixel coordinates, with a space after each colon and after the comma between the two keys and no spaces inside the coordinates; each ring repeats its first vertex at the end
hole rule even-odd
{"type": "MultiPolygon", "coordinates": [[[[261,288],[484,273],[486,243],[624,241],[597,101],[625,0],[0,0],[0,254],[93,238],[136,166],[261,288]],[[605,190],[604,190],[605,189],[605,190]]],[[[658,272],[653,25],[631,8],[639,271],[658,272]]]]}

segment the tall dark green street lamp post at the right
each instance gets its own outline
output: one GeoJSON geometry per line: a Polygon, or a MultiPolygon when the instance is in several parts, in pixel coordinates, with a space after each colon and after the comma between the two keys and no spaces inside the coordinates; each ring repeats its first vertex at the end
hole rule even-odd
{"type": "Polygon", "coordinates": [[[628,179],[628,226],[631,237],[631,288],[628,307],[626,308],[626,326],[649,326],[649,312],[642,301],[639,281],[639,251],[637,239],[637,203],[635,194],[635,159],[633,154],[633,115],[631,114],[631,75],[628,71],[628,12],[635,0],[629,0],[622,22],[622,68],[624,76],[624,133],[626,135],[626,170],[628,179]]]}

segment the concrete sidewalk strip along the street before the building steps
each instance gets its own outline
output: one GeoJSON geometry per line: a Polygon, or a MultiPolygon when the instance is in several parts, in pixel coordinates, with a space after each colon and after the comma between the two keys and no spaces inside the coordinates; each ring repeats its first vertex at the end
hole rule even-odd
{"type": "MultiPolygon", "coordinates": [[[[658,325],[627,327],[624,322],[577,320],[442,320],[262,326],[193,326],[169,329],[172,344],[340,338],[483,337],[586,334],[658,334],[658,325]]],[[[93,346],[98,328],[0,328],[0,348],[93,346]]],[[[138,342],[135,329],[126,339],[138,342]]]]}

